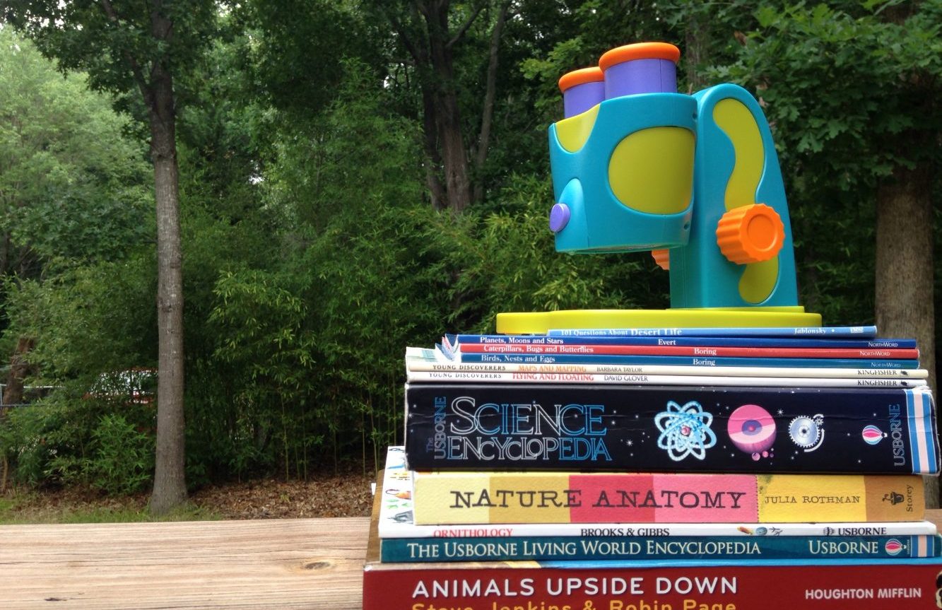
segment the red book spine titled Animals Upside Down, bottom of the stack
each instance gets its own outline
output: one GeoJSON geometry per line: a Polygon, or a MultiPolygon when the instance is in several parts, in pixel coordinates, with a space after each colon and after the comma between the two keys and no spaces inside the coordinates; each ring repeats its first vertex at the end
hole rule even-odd
{"type": "Polygon", "coordinates": [[[888,610],[931,608],[936,559],[768,562],[367,564],[364,610],[888,610]],[[579,567],[582,566],[582,567],[579,567]],[[380,569],[382,568],[382,569],[380,569]]]}

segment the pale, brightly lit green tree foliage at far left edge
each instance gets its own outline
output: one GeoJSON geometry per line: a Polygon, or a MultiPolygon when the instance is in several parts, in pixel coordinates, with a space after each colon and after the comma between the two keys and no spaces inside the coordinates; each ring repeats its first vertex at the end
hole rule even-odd
{"type": "MultiPolygon", "coordinates": [[[[126,119],[0,28],[0,273],[124,256],[148,235],[148,168],[126,119]]],[[[153,226],[153,225],[150,225],[153,226]]]]}

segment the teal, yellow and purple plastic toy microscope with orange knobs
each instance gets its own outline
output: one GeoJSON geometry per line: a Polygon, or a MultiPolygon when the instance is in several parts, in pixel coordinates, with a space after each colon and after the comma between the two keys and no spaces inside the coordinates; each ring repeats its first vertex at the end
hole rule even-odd
{"type": "Polygon", "coordinates": [[[549,127],[556,204],[571,253],[651,251],[671,308],[504,313],[497,332],[549,328],[820,326],[798,305],[788,204],[769,124],[723,84],[677,92],[673,44],[642,42],[560,78],[549,127]]]}

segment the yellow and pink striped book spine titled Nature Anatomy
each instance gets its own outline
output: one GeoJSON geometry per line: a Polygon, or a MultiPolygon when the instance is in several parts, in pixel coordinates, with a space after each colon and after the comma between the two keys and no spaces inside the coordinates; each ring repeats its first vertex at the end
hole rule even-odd
{"type": "Polygon", "coordinates": [[[913,475],[417,471],[413,485],[418,525],[924,517],[913,475]]]}

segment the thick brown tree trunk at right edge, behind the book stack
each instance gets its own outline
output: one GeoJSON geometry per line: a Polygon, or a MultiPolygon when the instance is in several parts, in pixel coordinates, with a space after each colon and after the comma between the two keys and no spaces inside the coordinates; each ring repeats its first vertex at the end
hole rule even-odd
{"type": "MultiPolygon", "coordinates": [[[[916,338],[919,365],[935,387],[932,171],[897,166],[877,190],[876,324],[883,337],[916,338]]],[[[926,505],[939,505],[926,477],[926,505]]]]}

